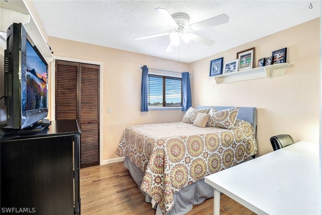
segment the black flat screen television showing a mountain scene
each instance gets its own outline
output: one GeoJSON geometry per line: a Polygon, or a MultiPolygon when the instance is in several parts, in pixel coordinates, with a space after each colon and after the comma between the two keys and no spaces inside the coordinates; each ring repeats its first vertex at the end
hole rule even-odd
{"type": "Polygon", "coordinates": [[[21,23],[8,27],[4,74],[8,127],[36,126],[48,114],[48,64],[21,23]]]}

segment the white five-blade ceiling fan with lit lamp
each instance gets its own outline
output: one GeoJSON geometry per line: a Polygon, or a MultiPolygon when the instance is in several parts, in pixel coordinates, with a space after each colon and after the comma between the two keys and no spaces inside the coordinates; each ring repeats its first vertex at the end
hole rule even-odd
{"type": "Polygon", "coordinates": [[[166,52],[171,52],[175,49],[175,46],[179,46],[180,37],[185,43],[188,43],[190,40],[198,42],[200,44],[211,46],[214,44],[214,41],[207,39],[205,37],[196,35],[193,31],[210,28],[216,25],[227,23],[229,17],[226,14],[221,14],[216,17],[209,18],[194,24],[189,23],[189,16],[185,13],[177,13],[171,15],[167,9],[156,8],[154,9],[172,28],[172,32],[165,32],[160,34],[153,34],[143,37],[136,37],[134,40],[142,40],[159,36],[170,35],[170,44],[168,45],[166,52]]]}

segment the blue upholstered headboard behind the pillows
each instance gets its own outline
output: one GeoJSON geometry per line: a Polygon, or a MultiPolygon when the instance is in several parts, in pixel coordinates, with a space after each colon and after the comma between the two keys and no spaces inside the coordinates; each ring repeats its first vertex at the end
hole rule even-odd
{"type": "MultiPolygon", "coordinates": [[[[234,107],[225,107],[225,106],[197,106],[197,109],[202,108],[209,108],[214,107],[217,110],[225,110],[234,107]]],[[[249,121],[255,130],[256,135],[256,128],[257,128],[257,108],[256,107],[239,107],[237,119],[243,119],[245,121],[249,121]]]]}

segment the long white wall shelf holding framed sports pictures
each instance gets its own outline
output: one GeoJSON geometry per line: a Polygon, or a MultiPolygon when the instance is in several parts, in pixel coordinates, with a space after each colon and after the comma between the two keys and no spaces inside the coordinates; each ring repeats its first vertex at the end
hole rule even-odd
{"type": "Polygon", "coordinates": [[[267,65],[243,71],[235,71],[219,76],[212,76],[208,79],[213,80],[214,84],[223,84],[230,82],[239,82],[253,79],[262,79],[274,76],[283,76],[286,70],[290,67],[289,63],[278,63],[274,65],[267,65]]]}

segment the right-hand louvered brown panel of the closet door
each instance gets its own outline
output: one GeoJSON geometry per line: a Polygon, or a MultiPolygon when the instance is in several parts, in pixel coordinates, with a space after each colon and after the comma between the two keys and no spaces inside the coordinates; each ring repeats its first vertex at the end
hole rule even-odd
{"type": "Polygon", "coordinates": [[[81,167],[99,165],[99,65],[80,64],[81,167]]]}

